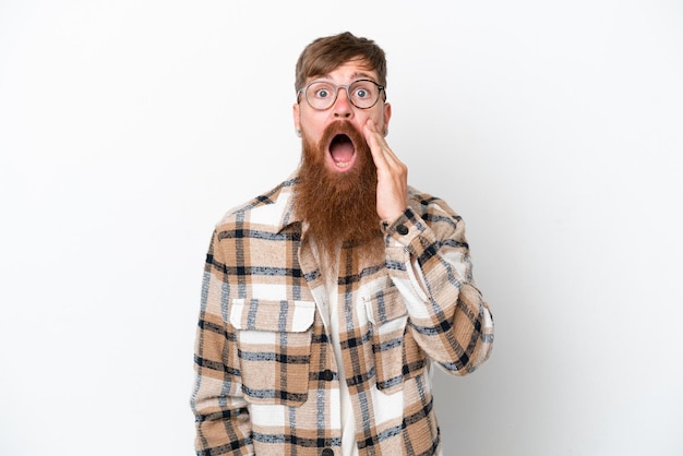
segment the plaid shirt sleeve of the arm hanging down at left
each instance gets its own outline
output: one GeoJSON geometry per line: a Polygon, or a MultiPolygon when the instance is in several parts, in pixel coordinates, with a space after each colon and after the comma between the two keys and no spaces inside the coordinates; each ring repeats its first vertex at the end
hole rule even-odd
{"type": "Polygon", "coordinates": [[[242,396],[235,332],[223,312],[229,302],[225,261],[214,232],[206,255],[194,350],[191,407],[197,455],[252,455],[251,421],[242,396]]]}

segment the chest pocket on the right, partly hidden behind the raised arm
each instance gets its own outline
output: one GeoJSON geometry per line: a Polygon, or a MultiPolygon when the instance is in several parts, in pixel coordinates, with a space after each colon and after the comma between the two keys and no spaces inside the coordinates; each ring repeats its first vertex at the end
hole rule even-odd
{"type": "Polygon", "coordinates": [[[367,298],[366,310],[372,328],[378,389],[390,394],[403,388],[408,311],[394,287],[367,298]]]}

